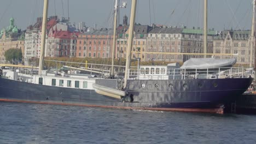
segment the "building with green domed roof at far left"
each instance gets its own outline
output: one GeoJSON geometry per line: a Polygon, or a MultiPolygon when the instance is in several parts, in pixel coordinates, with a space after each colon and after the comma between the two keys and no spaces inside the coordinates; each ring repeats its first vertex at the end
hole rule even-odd
{"type": "Polygon", "coordinates": [[[0,32],[0,62],[5,63],[4,53],[9,49],[21,49],[24,56],[25,34],[18,29],[14,23],[14,18],[10,18],[10,25],[0,32]]]}

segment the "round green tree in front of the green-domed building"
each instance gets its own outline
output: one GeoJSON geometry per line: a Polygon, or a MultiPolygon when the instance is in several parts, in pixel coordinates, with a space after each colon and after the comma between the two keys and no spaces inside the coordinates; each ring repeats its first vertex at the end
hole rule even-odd
{"type": "Polygon", "coordinates": [[[4,52],[6,61],[12,63],[13,61],[22,61],[21,49],[9,49],[4,52]]]}

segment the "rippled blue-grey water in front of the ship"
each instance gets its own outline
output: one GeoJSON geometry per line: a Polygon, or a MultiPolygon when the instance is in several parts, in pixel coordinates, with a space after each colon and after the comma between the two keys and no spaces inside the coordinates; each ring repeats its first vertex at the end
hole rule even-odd
{"type": "Polygon", "coordinates": [[[256,143],[256,116],[0,103],[0,143],[256,143]]]}

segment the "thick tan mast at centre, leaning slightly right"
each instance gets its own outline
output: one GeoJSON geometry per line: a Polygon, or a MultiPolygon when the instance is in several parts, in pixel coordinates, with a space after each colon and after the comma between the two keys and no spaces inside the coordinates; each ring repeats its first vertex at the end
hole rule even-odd
{"type": "Polygon", "coordinates": [[[132,49],[133,28],[134,28],[134,22],[135,22],[136,4],[137,4],[137,0],[132,0],[131,18],[130,18],[130,26],[129,26],[129,39],[128,39],[128,47],[127,47],[127,50],[126,50],[126,65],[125,65],[124,87],[126,87],[127,79],[129,77],[128,73],[129,73],[129,69],[130,69],[131,49],[132,49]]]}

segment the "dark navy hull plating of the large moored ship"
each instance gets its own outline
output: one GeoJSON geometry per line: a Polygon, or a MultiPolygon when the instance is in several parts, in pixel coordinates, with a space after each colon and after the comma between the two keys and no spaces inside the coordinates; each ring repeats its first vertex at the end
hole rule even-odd
{"type": "Polygon", "coordinates": [[[219,107],[245,92],[251,82],[249,78],[129,80],[126,90],[132,102],[123,102],[91,89],[43,86],[1,78],[0,101],[222,113],[219,107]],[[143,83],[145,87],[142,87],[143,83]]]}

